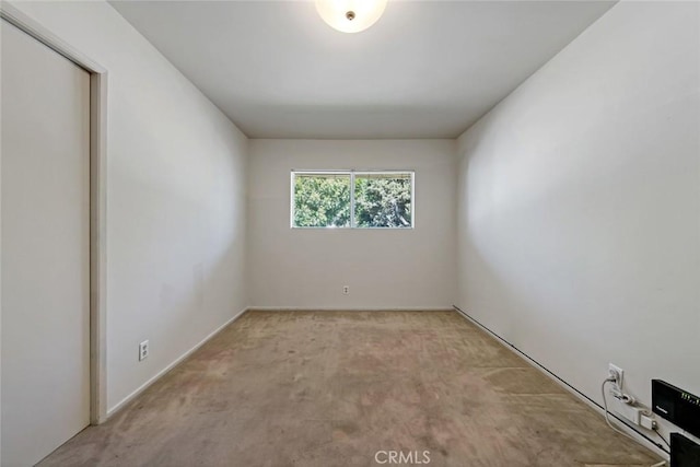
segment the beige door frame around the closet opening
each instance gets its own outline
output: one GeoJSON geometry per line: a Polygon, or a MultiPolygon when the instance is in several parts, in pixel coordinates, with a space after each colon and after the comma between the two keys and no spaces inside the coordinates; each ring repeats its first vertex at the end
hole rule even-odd
{"type": "Polygon", "coordinates": [[[107,70],[7,1],[0,17],[90,73],[90,423],[107,419],[107,70]]]}

